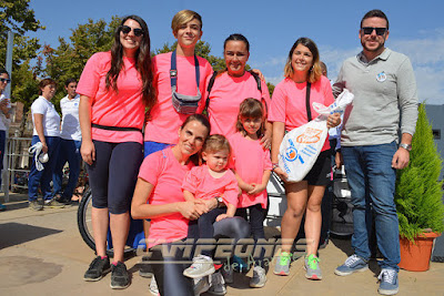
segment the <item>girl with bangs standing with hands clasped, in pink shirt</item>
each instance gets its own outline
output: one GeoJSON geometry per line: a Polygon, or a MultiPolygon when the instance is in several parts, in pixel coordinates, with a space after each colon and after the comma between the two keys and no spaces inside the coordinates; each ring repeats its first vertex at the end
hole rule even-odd
{"type": "MultiPolygon", "coordinates": [[[[242,190],[238,211],[250,212],[250,226],[256,242],[265,238],[263,221],[266,211],[266,183],[271,174],[270,151],[264,150],[261,137],[264,133],[265,112],[263,104],[255,99],[245,99],[239,110],[236,130],[229,137],[232,152],[232,169],[234,169],[239,187],[242,190]]],[[[263,287],[266,282],[263,254],[255,258],[251,287],[263,287]]]]}

